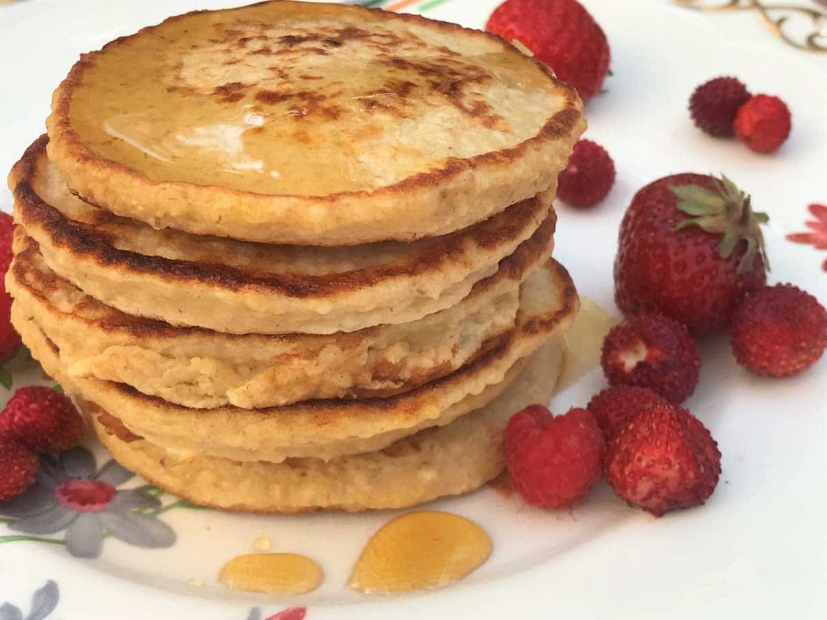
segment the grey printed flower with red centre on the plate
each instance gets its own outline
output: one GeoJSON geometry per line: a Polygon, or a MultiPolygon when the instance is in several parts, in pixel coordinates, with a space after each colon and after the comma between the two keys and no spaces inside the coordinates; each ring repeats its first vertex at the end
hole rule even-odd
{"type": "Polygon", "coordinates": [[[0,503],[0,514],[12,517],[9,529],[30,536],[0,537],[0,542],[65,544],[72,556],[84,558],[100,556],[109,536],[149,549],[172,546],[175,532],[158,515],[189,503],[179,500],[162,507],[153,494],[157,489],[149,485],[117,489],[133,477],[114,460],[96,470],[93,454],[84,447],[45,455],[36,483],[17,498],[0,503]],[[62,531],[62,541],[41,538],[62,531]]]}

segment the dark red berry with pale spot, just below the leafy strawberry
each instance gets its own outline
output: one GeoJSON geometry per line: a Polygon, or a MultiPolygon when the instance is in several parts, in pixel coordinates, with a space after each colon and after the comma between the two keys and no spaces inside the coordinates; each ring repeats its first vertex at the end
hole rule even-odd
{"type": "Polygon", "coordinates": [[[686,326],[661,314],[642,314],[609,331],[600,365],[609,384],[648,388],[678,404],[695,390],[700,355],[686,326]]]}

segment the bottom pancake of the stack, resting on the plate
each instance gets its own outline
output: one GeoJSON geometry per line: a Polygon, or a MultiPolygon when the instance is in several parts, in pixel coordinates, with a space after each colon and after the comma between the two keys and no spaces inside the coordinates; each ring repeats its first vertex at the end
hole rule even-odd
{"type": "Polygon", "coordinates": [[[191,502],[258,513],[358,512],[467,493],[495,478],[504,469],[502,442],[509,417],[529,404],[547,404],[561,367],[562,347],[552,341],[533,355],[509,389],[475,413],[405,437],[383,451],[327,463],[238,462],[204,455],[180,460],[123,432],[117,411],[108,414],[82,400],[81,407],[115,460],[191,502]]]}

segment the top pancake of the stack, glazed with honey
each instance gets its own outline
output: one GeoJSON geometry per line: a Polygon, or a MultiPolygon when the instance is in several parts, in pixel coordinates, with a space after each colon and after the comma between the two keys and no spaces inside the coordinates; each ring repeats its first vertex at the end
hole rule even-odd
{"type": "Polygon", "coordinates": [[[50,158],[155,227],[347,246],[456,231],[552,187],[585,128],[479,31],[341,4],[194,12],[81,57],[50,158]]]}

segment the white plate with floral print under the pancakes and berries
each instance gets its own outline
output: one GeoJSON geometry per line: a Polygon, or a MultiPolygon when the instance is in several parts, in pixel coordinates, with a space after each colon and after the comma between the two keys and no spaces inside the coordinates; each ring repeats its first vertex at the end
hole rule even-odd
{"type": "MultiPolygon", "coordinates": [[[[238,3],[27,0],[0,7],[0,169],[43,130],[50,92],[80,51],[177,12],[238,3]]],[[[482,26],[495,4],[452,0],[428,15],[482,26]]],[[[587,136],[614,155],[618,182],[591,212],[559,209],[555,255],[581,293],[611,304],[617,225],[637,188],[674,172],[723,170],[772,216],[771,278],[793,281],[827,302],[820,268],[827,255],[784,238],[804,229],[808,203],[827,202],[827,73],[816,64],[825,57],[788,50],[743,15],[701,16],[656,1],[586,5],[609,36],[614,72],[608,92],[587,108],[587,136]],[[719,74],[738,75],[753,91],[781,94],[790,104],[793,134],[777,155],[755,155],[691,125],[689,93],[719,74]]],[[[6,192],[0,207],[10,210],[6,192]]],[[[627,507],[604,483],[580,506],[557,513],[490,489],[442,500],[430,508],[479,522],[495,542],[494,555],[451,588],[380,599],[345,584],[361,547],[394,513],[256,517],[175,508],[160,516],[178,537],[167,549],[109,538],[102,556],[81,560],[59,544],[0,545],[0,603],[13,603],[26,617],[31,595],[51,579],[56,589],[50,585],[38,600],[59,591],[48,618],[63,620],[243,620],[294,605],[307,606],[309,620],[824,618],[827,362],[773,381],[741,370],[723,340],[703,343],[702,354],[700,386],[687,405],[724,454],[724,475],[703,508],[657,519],[627,507]],[[271,551],[317,560],[326,573],[322,588],[294,599],[223,589],[219,568],[251,552],[257,537],[269,538],[271,551]],[[192,578],[203,585],[188,586],[192,578]]],[[[592,372],[557,395],[552,408],[583,405],[603,385],[592,372]]],[[[98,465],[104,458],[98,453],[98,465]]],[[[0,525],[0,536],[10,533],[0,525]]],[[[17,616],[7,607],[0,618],[17,616]]]]}

